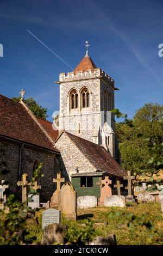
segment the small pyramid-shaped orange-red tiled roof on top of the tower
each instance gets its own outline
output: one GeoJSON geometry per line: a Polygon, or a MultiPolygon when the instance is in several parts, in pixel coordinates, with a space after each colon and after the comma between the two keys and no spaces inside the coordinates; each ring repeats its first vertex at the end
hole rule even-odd
{"type": "Polygon", "coordinates": [[[93,69],[96,69],[96,65],[95,63],[93,62],[93,60],[89,57],[89,56],[85,56],[81,62],[78,64],[78,66],[74,69],[74,72],[77,72],[77,71],[85,71],[85,70],[93,70],[93,69]]]}

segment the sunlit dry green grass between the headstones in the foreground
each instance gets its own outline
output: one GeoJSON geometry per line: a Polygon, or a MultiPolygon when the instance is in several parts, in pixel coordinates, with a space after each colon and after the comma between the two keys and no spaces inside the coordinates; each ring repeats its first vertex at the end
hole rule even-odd
{"type": "MultiPolygon", "coordinates": [[[[163,240],[160,203],[127,206],[125,209],[106,207],[90,208],[78,210],[77,214],[77,222],[66,221],[65,218],[62,217],[61,223],[66,224],[68,229],[84,229],[84,223],[89,217],[94,223],[95,237],[106,237],[109,234],[115,234],[117,245],[160,244],[161,239],[163,240]],[[114,211],[115,214],[110,214],[112,211],[114,211]],[[133,221],[130,222],[133,214],[135,217],[133,217],[133,221]],[[151,227],[151,224],[153,227],[151,227]]],[[[36,236],[37,243],[41,242],[43,234],[42,210],[36,212],[36,216],[39,218],[39,227],[29,227],[27,239],[36,236]]]]}

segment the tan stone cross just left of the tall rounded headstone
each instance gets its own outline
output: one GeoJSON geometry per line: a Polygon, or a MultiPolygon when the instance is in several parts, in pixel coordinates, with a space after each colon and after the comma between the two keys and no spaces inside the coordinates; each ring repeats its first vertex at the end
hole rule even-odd
{"type": "Polygon", "coordinates": [[[51,197],[51,208],[58,206],[58,194],[61,188],[61,182],[65,182],[65,178],[61,178],[61,174],[57,173],[57,179],[53,179],[53,182],[57,182],[57,190],[54,191],[51,197]]]}

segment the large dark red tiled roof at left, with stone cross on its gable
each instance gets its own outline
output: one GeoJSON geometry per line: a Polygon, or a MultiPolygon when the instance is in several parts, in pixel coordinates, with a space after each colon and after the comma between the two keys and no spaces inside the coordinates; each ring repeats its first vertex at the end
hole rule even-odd
{"type": "Polygon", "coordinates": [[[58,151],[21,103],[0,94],[0,134],[58,151]]]}

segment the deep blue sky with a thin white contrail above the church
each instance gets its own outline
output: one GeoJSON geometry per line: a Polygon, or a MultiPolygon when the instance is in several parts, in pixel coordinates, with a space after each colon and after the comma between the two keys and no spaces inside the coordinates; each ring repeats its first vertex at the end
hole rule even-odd
{"type": "Polygon", "coordinates": [[[34,97],[48,108],[49,120],[59,110],[61,72],[71,69],[27,29],[75,68],[89,54],[96,66],[115,80],[115,107],[133,117],[147,102],[162,104],[162,0],[0,0],[0,93],[34,97]]]}

